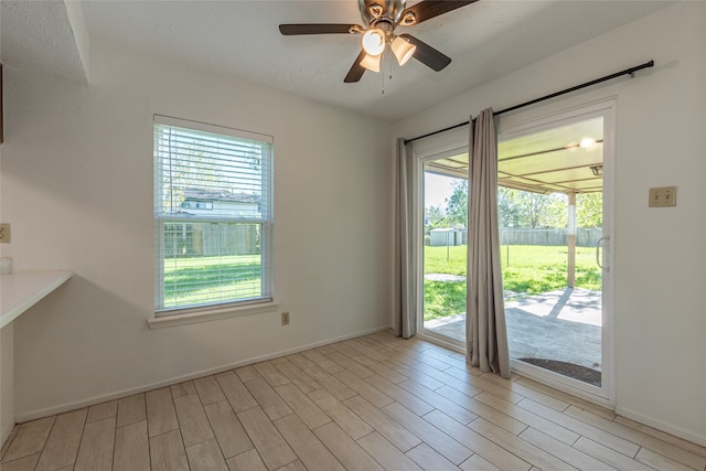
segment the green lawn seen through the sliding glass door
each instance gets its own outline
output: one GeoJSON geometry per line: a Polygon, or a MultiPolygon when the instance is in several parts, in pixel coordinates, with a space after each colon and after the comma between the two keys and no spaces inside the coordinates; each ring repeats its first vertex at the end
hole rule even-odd
{"type": "MultiPolygon", "coordinates": [[[[466,275],[467,247],[425,247],[425,274],[466,275]]],[[[567,248],[560,246],[511,245],[501,247],[503,288],[537,295],[566,287],[567,248]],[[509,263],[510,260],[510,263],[509,263]]],[[[576,248],[576,287],[600,289],[596,249],[576,248]]],[[[466,311],[466,281],[424,282],[425,320],[466,311]]]]}

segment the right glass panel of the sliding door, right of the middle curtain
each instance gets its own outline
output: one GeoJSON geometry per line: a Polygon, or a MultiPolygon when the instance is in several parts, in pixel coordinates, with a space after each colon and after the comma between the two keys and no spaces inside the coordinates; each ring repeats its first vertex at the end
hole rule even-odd
{"type": "Polygon", "coordinates": [[[511,357],[600,388],[603,118],[499,143],[499,216],[511,357]]]}

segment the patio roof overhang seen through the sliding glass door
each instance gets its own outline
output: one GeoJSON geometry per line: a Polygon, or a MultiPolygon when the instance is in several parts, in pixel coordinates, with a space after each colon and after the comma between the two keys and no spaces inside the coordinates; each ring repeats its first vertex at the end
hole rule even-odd
{"type": "MultiPolygon", "coordinates": [[[[588,119],[498,144],[498,184],[533,193],[602,191],[603,121],[588,119]]],[[[437,159],[426,171],[468,178],[468,152],[437,159]]]]}

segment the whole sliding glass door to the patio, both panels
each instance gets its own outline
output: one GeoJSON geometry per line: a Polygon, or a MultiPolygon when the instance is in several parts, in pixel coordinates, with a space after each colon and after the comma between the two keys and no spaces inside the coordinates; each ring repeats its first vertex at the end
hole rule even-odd
{"type": "MultiPolygon", "coordinates": [[[[513,370],[612,398],[613,103],[500,122],[501,263],[513,370]],[[515,124],[516,122],[516,124],[515,124]]],[[[422,334],[466,346],[468,141],[415,142],[422,334]]],[[[472,260],[471,260],[472,263],[472,260]]]]}

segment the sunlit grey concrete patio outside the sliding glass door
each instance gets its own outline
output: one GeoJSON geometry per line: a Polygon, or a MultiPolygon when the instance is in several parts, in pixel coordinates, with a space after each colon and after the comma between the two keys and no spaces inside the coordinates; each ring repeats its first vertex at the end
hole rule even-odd
{"type": "MultiPolygon", "coordinates": [[[[601,370],[601,295],[566,288],[505,300],[512,358],[546,358],[601,370]]],[[[425,322],[425,329],[466,340],[466,313],[425,322]]]]}

